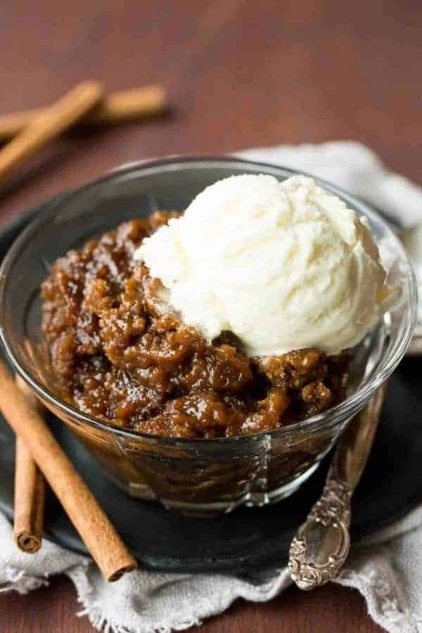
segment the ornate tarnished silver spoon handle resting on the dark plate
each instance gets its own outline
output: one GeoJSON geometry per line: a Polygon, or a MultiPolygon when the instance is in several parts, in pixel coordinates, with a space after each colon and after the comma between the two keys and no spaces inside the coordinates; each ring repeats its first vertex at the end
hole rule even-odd
{"type": "Polygon", "coordinates": [[[373,394],[338,442],[321,497],[290,544],[288,568],[300,589],[338,575],[350,549],[350,501],[375,436],[386,385],[373,394]]]}

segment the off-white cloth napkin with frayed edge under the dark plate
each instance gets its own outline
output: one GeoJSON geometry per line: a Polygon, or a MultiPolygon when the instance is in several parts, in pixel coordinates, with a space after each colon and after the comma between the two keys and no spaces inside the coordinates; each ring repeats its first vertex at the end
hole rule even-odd
{"type": "MultiPolygon", "coordinates": [[[[422,221],[421,188],[386,170],[358,143],[260,148],[239,155],[333,181],[403,224],[422,221]]],[[[11,534],[10,523],[0,514],[0,592],[25,594],[48,584],[51,575],[64,573],[75,584],[82,605],[78,615],[87,615],[106,633],[181,631],[222,613],[239,597],[270,600],[291,582],[283,568],[249,577],[136,570],[108,584],[89,558],[48,541],[38,554],[22,554],[11,534]]],[[[358,589],[373,620],[387,631],[422,632],[422,506],[354,544],[335,582],[358,589]]]]}

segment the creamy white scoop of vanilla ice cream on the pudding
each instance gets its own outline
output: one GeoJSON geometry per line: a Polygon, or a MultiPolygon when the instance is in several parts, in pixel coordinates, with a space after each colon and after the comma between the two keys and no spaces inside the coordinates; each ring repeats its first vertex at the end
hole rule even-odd
{"type": "Polygon", "coordinates": [[[135,257],[185,324],[231,331],[250,356],[352,347],[388,295],[366,220],[305,176],[217,181],[135,257]]]}

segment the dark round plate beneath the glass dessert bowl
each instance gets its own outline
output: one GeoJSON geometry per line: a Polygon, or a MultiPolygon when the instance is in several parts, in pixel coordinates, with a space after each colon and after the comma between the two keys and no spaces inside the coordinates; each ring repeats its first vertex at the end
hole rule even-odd
{"type": "MultiPolygon", "coordinates": [[[[31,215],[0,234],[0,259],[31,215]]],[[[418,359],[406,359],[390,381],[366,471],[353,499],[354,537],[369,534],[422,501],[422,388],[418,359]]],[[[130,499],[104,478],[72,433],[51,417],[51,428],[127,545],[146,567],[191,573],[248,573],[286,563],[288,545],[317,499],[328,462],[299,492],[266,508],[242,508],[222,518],[185,518],[155,503],[130,499]]],[[[0,416],[0,509],[13,515],[13,434],[0,416]]],[[[75,551],[84,545],[50,492],[46,537],[75,551]]]]}

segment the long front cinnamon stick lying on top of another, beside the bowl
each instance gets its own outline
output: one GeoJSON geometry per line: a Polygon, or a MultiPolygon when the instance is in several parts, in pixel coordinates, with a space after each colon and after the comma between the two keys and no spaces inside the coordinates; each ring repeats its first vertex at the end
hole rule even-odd
{"type": "Polygon", "coordinates": [[[106,580],[118,580],[136,568],[134,556],[3,362],[0,362],[0,409],[27,445],[106,580]]]}

